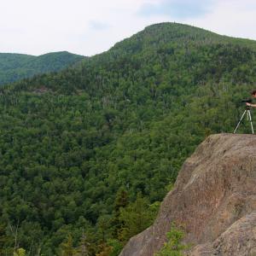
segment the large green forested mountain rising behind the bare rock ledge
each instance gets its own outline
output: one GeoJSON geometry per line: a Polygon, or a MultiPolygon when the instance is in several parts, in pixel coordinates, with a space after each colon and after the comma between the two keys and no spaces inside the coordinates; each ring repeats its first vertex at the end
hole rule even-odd
{"type": "Polygon", "coordinates": [[[3,86],[2,251],[117,255],[152,223],[195,147],[233,131],[256,86],[255,47],[161,23],[76,67],[3,86]]]}

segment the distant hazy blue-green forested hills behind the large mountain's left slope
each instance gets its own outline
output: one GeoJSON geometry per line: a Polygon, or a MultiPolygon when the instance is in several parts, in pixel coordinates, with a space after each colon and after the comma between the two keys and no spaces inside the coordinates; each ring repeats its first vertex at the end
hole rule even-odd
{"type": "Polygon", "coordinates": [[[39,56],[0,53],[0,85],[31,78],[40,73],[60,71],[83,58],[84,56],[67,51],[39,56]]]}

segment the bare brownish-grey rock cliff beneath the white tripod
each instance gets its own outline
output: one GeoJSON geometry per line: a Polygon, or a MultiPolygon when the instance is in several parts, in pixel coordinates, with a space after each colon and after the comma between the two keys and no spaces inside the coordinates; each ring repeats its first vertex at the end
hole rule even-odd
{"type": "Polygon", "coordinates": [[[207,137],[184,162],[154,224],[120,255],[154,255],[173,221],[185,227],[190,256],[256,255],[256,136],[207,137]]]}

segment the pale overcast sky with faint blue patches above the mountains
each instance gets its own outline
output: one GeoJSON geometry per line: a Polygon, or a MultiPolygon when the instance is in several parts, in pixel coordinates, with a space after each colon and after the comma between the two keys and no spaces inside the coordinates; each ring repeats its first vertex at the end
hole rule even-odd
{"type": "Polygon", "coordinates": [[[0,0],[0,52],[95,55],[163,21],[256,40],[256,0],[0,0]]]}

